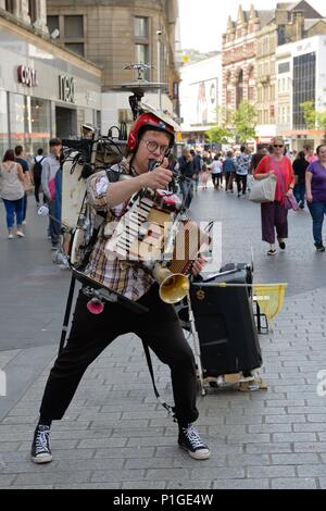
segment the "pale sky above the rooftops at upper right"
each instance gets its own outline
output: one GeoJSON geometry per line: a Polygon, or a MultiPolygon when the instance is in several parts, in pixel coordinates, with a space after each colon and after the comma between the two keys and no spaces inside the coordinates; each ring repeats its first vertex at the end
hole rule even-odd
{"type": "MultiPolygon", "coordinates": [[[[223,0],[179,0],[181,48],[192,48],[201,52],[221,50],[222,34],[226,32],[227,18],[229,15],[233,20],[237,18],[240,3],[246,11],[252,3],[259,10],[268,10],[275,8],[279,1],[226,0],[226,7],[223,7],[223,0]]],[[[306,1],[326,16],[325,0],[306,1]]]]}

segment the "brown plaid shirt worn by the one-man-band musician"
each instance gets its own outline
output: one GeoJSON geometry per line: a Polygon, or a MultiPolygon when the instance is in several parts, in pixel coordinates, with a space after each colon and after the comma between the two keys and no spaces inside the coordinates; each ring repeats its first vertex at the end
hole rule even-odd
{"type": "MultiPolygon", "coordinates": [[[[112,170],[133,174],[126,160],[121,165],[114,165],[112,170]]],[[[87,182],[88,202],[97,212],[106,213],[108,220],[112,222],[112,227],[116,225],[121,216],[126,212],[127,203],[110,208],[106,191],[110,186],[106,173],[98,172],[87,182]],[[115,222],[115,224],[114,224],[115,222]]],[[[114,230],[113,228],[111,229],[114,230]]],[[[99,282],[103,286],[117,291],[130,300],[138,300],[145,295],[153,278],[136,264],[126,264],[117,258],[108,259],[104,252],[105,245],[110,237],[103,236],[104,226],[100,228],[97,242],[93,247],[89,264],[86,267],[86,275],[99,282]]]]}

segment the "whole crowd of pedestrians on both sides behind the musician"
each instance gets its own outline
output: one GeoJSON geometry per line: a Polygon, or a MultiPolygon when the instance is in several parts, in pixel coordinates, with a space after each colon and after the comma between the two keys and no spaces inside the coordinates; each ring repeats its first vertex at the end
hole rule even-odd
{"type": "MultiPolygon", "coordinates": [[[[8,237],[23,238],[26,225],[28,197],[34,190],[36,207],[42,205],[42,214],[49,215],[48,237],[51,248],[61,251],[61,197],[62,197],[62,142],[52,138],[48,153],[39,148],[35,157],[26,158],[24,148],[8,150],[0,164],[0,198],[3,200],[8,237]]],[[[239,149],[199,152],[184,148],[181,157],[170,157],[168,167],[181,175],[179,191],[186,208],[190,208],[199,185],[206,190],[210,179],[215,190],[246,197],[254,180],[274,175],[277,182],[275,200],[261,204],[262,239],[269,245],[267,254],[286,249],[288,237],[288,209],[286,198],[294,198],[299,210],[308,209],[312,216],[313,238],[318,252],[325,251],[323,224],[326,214],[326,145],[306,147],[298,153],[288,153],[281,138],[275,138],[269,147],[259,145],[255,153],[247,146],[239,149]]],[[[291,199],[292,200],[292,199],[291,199]]],[[[61,258],[62,259],[62,258],[61,258]]],[[[61,261],[60,261],[61,263],[61,261]]]]}

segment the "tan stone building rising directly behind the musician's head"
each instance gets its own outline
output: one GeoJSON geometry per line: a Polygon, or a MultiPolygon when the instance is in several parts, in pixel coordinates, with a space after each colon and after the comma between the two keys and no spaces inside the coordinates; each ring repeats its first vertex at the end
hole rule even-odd
{"type": "Polygon", "coordinates": [[[118,91],[135,82],[130,63],[151,64],[146,79],[165,84],[145,102],[177,113],[179,75],[175,63],[177,0],[48,0],[48,25],[57,43],[103,67],[102,130],[130,122],[128,96],[118,91]]]}

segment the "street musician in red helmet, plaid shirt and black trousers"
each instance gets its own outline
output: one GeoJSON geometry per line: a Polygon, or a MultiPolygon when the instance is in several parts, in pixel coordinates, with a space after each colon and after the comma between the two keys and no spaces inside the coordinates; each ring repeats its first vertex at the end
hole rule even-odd
{"type": "MultiPolygon", "coordinates": [[[[113,171],[128,173],[131,179],[109,182],[106,172],[98,172],[88,179],[87,200],[97,212],[116,222],[127,210],[130,197],[143,188],[166,188],[173,173],[164,159],[174,145],[174,128],[152,113],[140,115],[130,129],[128,155],[113,171]],[[160,166],[148,172],[149,161],[155,159],[160,166]]],[[[110,220],[108,220],[109,222],[110,220]]],[[[193,353],[185,338],[173,306],[159,297],[159,286],[141,265],[125,265],[115,257],[106,258],[108,237],[101,229],[95,242],[86,274],[109,289],[118,289],[126,298],[149,309],[138,314],[126,311],[120,303],[106,302],[101,314],[95,315],[87,308],[89,297],[79,292],[71,334],[63,351],[51,370],[43,394],[40,419],[36,427],[32,460],[47,463],[52,460],[50,426],[61,420],[72,401],[86,369],[116,337],[135,333],[167,364],[171,370],[178,423],[178,444],[190,457],[204,460],[210,450],[192,423],[198,419],[196,407],[197,376],[193,353]]],[[[110,239],[110,238],[109,238],[110,239]]],[[[199,273],[204,261],[193,265],[199,273]]]]}

